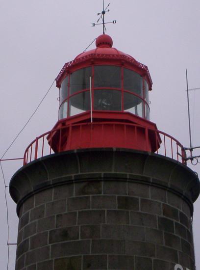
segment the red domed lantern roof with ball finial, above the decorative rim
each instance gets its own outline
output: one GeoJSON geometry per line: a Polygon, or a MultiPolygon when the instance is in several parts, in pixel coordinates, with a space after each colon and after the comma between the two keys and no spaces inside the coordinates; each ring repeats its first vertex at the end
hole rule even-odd
{"type": "Polygon", "coordinates": [[[125,55],[125,56],[130,57],[131,59],[134,59],[132,56],[125,54],[117,50],[116,48],[112,48],[112,45],[113,45],[112,38],[109,35],[102,34],[96,39],[96,49],[78,54],[75,57],[75,60],[85,57],[89,54],[110,54],[110,55],[117,54],[117,55],[125,55]]]}

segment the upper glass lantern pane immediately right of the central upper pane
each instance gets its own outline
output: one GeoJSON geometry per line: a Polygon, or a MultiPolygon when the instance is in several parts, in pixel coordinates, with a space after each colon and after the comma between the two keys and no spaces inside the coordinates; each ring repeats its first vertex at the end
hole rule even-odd
{"type": "Polygon", "coordinates": [[[143,97],[142,76],[136,72],[124,69],[124,89],[143,97]]]}

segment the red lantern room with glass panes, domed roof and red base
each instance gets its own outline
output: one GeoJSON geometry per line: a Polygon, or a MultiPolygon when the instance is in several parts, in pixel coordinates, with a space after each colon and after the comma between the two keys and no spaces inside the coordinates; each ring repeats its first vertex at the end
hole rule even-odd
{"type": "Polygon", "coordinates": [[[96,49],[66,63],[56,78],[59,119],[48,136],[54,152],[159,148],[160,136],[150,122],[148,67],[112,46],[109,35],[100,35],[96,49]]]}

